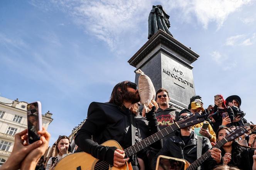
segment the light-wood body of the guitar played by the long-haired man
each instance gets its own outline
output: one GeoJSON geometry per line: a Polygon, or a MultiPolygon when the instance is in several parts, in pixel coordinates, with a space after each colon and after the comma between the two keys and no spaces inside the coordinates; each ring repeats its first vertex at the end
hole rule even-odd
{"type": "MultiPolygon", "coordinates": [[[[101,145],[109,147],[123,148],[115,140],[108,140],[101,145]]],[[[110,167],[107,162],[94,158],[85,152],[72,153],[62,158],[54,170],[132,170],[131,163],[125,163],[122,167],[110,167]]]]}

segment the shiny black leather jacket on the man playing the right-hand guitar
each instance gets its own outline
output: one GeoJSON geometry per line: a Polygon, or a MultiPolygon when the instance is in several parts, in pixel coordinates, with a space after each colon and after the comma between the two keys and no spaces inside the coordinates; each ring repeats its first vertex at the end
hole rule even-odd
{"type": "MultiPolygon", "coordinates": [[[[208,138],[203,137],[202,142],[202,154],[212,147],[208,138]]],[[[154,158],[154,167],[157,163],[157,157],[159,155],[166,155],[168,157],[181,158],[187,160],[189,163],[193,163],[197,160],[197,135],[192,131],[190,134],[190,140],[187,145],[184,144],[182,138],[179,136],[170,137],[163,148],[158,152],[154,158]]],[[[216,161],[213,158],[208,158],[202,165],[201,169],[212,169],[216,165],[216,161]]]]}

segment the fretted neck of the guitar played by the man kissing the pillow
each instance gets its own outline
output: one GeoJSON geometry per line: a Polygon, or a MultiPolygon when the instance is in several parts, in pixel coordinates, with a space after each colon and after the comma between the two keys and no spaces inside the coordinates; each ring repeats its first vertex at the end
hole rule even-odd
{"type": "Polygon", "coordinates": [[[163,137],[166,137],[167,135],[169,135],[170,133],[178,129],[179,129],[178,123],[177,122],[173,123],[172,125],[160,130],[159,132],[151,135],[150,137],[147,137],[144,140],[141,140],[141,142],[138,142],[135,145],[132,145],[131,147],[126,148],[125,156],[130,157],[131,155],[134,155],[140,150],[147,148],[152,143],[157,142],[158,140],[162,139],[163,137]]]}

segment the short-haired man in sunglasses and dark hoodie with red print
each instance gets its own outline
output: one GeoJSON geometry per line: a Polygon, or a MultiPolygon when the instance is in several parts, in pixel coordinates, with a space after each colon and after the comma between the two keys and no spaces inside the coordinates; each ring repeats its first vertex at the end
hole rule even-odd
{"type": "MultiPolygon", "coordinates": [[[[177,114],[179,114],[179,112],[175,108],[173,108],[173,105],[170,105],[169,93],[166,89],[160,88],[159,90],[157,90],[156,97],[156,101],[159,105],[159,108],[156,112],[156,117],[158,127],[160,130],[162,130],[163,128],[166,128],[175,122],[175,117],[177,114]]],[[[174,133],[168,135],[167,137],[164,137],[163,143],[173,135],[174,133]]]]}

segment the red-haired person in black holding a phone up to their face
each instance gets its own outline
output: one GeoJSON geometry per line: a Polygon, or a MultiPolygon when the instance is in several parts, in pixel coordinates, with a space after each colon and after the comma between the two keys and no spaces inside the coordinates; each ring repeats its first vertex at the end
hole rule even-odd
{"type": "Polygon", "coordinates": [[[234,120],[234,113],[231,107],[226,106],[226,101],[222,95],[214,96],[214,113],[212,115],[213,130],[216,133],[220,125],[231,126],[231,122],[234,120]]]}

